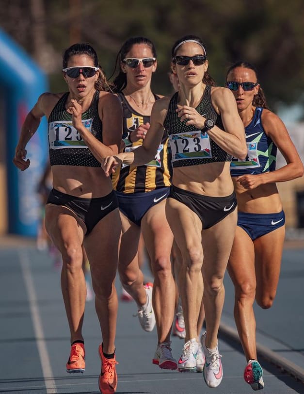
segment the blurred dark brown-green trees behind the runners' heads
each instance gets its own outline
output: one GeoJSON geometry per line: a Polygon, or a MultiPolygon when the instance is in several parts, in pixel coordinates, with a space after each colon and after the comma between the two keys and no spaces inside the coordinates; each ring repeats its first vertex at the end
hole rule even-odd
{"type": "Polygon", "coordinates": [[[209,72],[218,84],[224,84],[226,69],[235,61],[253,63],[274,110],[279,103],[304,99],[303,21],[303,0],[2,0],[0,9],[0,26],[28,53],[37,59],[39,51],[48,52],[52,88],[64,88],[58,82],[61,54],[73,42],[90,42],[109,77],[122,43],[144,35],[158,52],[153,87],[170,93],[171,47],[192,33],[206,43],[209,72]],[[43,9],[38,16],[32,10],[35,2],[43,9]],[[39,22],[45,44],[38,50],[32,32],[39,22]]]}

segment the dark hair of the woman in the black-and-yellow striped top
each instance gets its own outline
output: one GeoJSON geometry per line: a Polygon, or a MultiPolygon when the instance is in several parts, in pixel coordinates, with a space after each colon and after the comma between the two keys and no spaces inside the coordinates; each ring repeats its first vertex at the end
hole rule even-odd
{"type": "Polygon", "coordinates": [[[127,86],[127,75],[121,69],[121,62],[125,59],[127,53],[131,50],[131,48],[135,44],[147,45],[148,47],[150,47],[153,57],[156,58],[156,49],[155,49],[154,44],[151,40],[149,40],[146,37],[128,38],[128,40],[123,43],[121,49],[119,49],[119,52],[117,53],[116,61],[115,61],[115,68],[114,68],[114,71],[110,77],[110,79],[112,77],[114,78],[114,81],[113,81],[114,92],[120,92],[127,86]],[[117,75],[115,76],[115,74],[117,74],[117,75]]]}

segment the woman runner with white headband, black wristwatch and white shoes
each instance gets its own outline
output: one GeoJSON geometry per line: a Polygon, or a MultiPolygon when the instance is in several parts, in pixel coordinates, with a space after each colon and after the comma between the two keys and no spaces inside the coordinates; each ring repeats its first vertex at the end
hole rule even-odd
{"type": "Polygon", "coordinates": [[[206,49],[199,37],[190,35],[176,41],[171,67],[180,90],[155,102],[143,146],[105,158],[102,166],[110,176],[121,162],[146,163],[157,151],[163,128],[168,132],[173,190],[166,216],[182,255],[179,291],[186,326],[178,369],[196,371],[197,320],[203,296],[199,282],[203,276],[207,326],[201,338],[206,357],[203,375],[209,387],[217,387],[223,378],[217,346],[223,279],[237,223],[230,158],[245,159],[245,133],[233,94],[214,86],[208,74],[206,49]]]}

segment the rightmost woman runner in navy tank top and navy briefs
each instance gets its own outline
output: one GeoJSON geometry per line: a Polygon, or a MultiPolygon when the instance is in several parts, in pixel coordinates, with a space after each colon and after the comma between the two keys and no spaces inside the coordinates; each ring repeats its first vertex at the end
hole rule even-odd
{"type": "Polygon", "coordinates": [[[263,389],[263,371],[256,360],[256,321],[253,304],[272,306],[279,280],[285,215],[275,182],[301,177],[303,164],[280,118],[267,109],[249,63],[227,72],[245,126],[247,156],[232,158],[230,171],[238,201],[238,225],[228,272],[235,286],[235,319],[247,365],[244,378],[254,390],[263,389]],[[277,148],[287,164],[275,169],[277,148]]]}

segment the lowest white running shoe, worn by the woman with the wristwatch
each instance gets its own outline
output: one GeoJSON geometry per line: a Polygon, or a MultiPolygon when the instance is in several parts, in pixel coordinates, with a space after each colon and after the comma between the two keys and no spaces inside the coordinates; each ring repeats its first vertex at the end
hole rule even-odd
{"type": "Polygon", "coordinates": [[[210,351],[205,345],[206,332],[201,336],[201,345],[205,353],[205,365],[203,375],[208,387],[217,387],[223,379],[223,367],[219,349],[216,346],[214,351],[210,351]]]}

